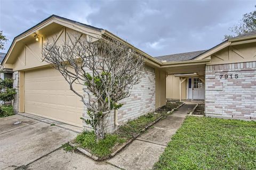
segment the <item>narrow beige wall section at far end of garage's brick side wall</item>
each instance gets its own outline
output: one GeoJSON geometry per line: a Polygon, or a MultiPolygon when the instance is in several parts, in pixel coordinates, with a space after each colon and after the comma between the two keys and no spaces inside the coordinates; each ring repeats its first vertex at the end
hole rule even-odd
{"type": "Polygon", "coordinates": [[[155,69],[156,75],[156,108],[164,106],[166,104],[166,74],[165,71],[155,69]]]}

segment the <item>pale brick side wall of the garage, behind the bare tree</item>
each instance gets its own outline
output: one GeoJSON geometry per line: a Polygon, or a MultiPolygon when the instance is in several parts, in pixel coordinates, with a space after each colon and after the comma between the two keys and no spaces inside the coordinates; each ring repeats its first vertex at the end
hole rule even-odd
{"type": "MultiPolygon", "coordinates": [[[[155,111],[155,73],[154,70],[145,70],[139,84],[134,85],[129,98],[125,98],[119,103],[123,103],[123,107],[118,110],[118,124],[122,125],[128,120],[138,118],[148,112],[155,111]]],[[[87,118],[86,108],[84,108],[84,118],[87,118]]],[[[88,125],[83,123],[86,129],[90,129],[88,125]]],[[[117,126],[114,125],[114,111],[111,112],[107,132],[115,131],[117,126]]]]}

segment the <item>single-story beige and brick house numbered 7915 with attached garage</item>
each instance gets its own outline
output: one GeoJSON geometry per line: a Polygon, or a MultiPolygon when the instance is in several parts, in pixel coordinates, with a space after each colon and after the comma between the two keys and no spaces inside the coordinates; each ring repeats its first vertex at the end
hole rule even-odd
{"type": "MultiPolygon", "coordinates": [[[[101,28],[51,15],[14,38],[2,62],[13,71],[17,94],[15,112],[26,112],[63,123],[86,127],[87,117],[78,96],[69,90],[61,74],[42,59],[45,41],[71,41],[70,35],[123,39],[101,28]]],[[[128,46],[132,46],[126,43],[128,46]]],[[[229,39],[207,51],[158,56],[135,48],[145,56],[141,82],[117,116],[111,114],[108,131],[164,106],[169,99],[204,99],[205,113],[212,117],[256,119],[256,33],[229,39]],[[167,96],[166,96],[167,95],[167,96]]],[[[81,93],[82,87],[77,89],[81,93]]],[[[85,94],[84,94],[85,95],[85,94]]]]}

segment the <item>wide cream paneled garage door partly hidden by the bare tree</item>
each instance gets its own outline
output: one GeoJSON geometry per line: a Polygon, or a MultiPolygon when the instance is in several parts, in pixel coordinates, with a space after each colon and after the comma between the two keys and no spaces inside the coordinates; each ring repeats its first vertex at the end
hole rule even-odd
{"type": "MultiPolygon", "coordinates": [[[[82,86],[75,87],[82,94],[82,86]]],[[[25,112],[82,126],[83,104],[53,68],[25,72],[25,112]]]]}

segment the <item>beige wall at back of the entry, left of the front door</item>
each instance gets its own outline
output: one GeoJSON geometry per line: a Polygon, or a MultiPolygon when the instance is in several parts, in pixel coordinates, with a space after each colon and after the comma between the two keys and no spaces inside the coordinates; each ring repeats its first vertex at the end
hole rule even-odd
{"type": "MultiPolygon", "coordinates": [[[[166,77],[166,99],[180,99],[180,80],[174,75],[166,77]]],[[[187,80],[181,84],[181,99],[187,99],[187,80]]]]}

